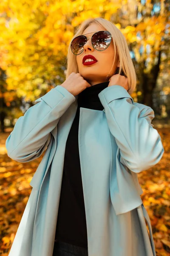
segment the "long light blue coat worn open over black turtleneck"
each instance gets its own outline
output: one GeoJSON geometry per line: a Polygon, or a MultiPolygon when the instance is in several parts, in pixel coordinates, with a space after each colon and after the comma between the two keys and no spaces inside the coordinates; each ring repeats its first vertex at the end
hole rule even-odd
{"type": "MultiPolygon", "coordinates": [[[[119,85],[98,96],[103,111],[81,107],[78,131],[88,256],[156,256],[137,177],[164,153],[151,124],[154,112],[133,102],[119,85]]],[[[46,149],[9,256],[53,254],[65,145],[77,99],[60,85],[51,89],[20,116],[6,140],[8,156],[22,163],[46,149]]]]}

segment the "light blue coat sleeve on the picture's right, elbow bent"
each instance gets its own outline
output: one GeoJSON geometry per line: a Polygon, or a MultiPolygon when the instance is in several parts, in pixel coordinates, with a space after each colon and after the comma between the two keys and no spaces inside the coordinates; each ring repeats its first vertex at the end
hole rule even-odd
{"type": "Polygon", "coordinates": [[[151,124],[153,109],[145,106],[141,111],[120,85],[106,87],[98,96],[109,130],[120,148],[120,162],[136,173],[158,163],[164,148],[158,131],[151,124]]]}

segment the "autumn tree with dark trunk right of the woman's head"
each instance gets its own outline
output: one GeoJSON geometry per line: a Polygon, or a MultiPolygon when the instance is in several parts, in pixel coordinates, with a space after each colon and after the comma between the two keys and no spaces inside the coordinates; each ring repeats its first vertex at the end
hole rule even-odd
{"type": "Polygon", "coordinates": [[[162,55],[167,56],[170,43],[169,0],[130,0],[118,10],[121,24],[136,66],[142,103],[153,108],[153,91],[159,72],[164,69],[162,55]]]}

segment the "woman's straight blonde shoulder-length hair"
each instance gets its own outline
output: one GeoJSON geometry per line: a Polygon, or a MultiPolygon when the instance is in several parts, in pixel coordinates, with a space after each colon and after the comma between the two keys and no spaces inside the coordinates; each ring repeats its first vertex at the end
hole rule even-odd
{"type": "MultiPolygon", "coordinates": [[[[105,20],[102,17],[89,18],[89,19],[83,21],[82,24],[78,27],[77,32],[75,33],[72,40],[75,37],[77,37],[78,35],[82,35],[84,30],[88,26],[90,26],[91,23],[97,23],[97,24],[103,26],[105,28],[105,30],[107,30],[111,33],[112,38],[113,38],[114,51],[116,52],[116,54],[114,56],[113,65],[114,65],[115,61],[119,60],[119,63],[120,63],[119,75],[123,71],[123,73],[127,77],[128,84],[129,84],[128,93],[129,94],[133,93],[133,91],[136,89],[136,80],[137,80],[135,67],[134,67],[133,61],[130,57],[130,52],[129,52],[129,48],[128,48],[125,36],[111,21],[105,20]]],[[[74,55],[74,53],[71,51],[71,41],[70,41],[70,44],[68,47],[66,79],[72,72],[74,72],[74,73],[79,72],[76,55],[74,55]]],[[[110,72],[109,72],[109,74],[110,74],[110,72]]],[[[108,74],[108,76],[109,76],[109,74],[108,74]]],[[[106,77],[106,79],[108,79],[108,76],[106,77]]]]}

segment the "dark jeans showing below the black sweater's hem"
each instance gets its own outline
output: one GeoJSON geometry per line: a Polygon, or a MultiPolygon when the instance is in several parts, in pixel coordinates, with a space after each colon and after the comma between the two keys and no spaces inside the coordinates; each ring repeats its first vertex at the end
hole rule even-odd
{"type": "Polygon", "coordinates": [[[74,244],[55,241],[53,256],[88,256],[88,249],[74,244]]]}

